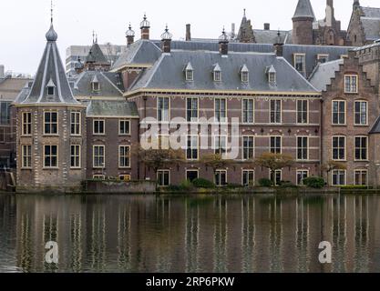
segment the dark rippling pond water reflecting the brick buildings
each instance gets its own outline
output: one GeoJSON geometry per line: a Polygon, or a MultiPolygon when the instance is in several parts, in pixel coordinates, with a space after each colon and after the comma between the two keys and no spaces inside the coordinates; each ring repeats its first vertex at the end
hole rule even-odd
{"type": "Polygon", "coordinates": [[[0,196],[0,271],[380,272],[379,207],[378,196],[0,196]],[[322,241],[331,265],[318,262],[322,241]]]}

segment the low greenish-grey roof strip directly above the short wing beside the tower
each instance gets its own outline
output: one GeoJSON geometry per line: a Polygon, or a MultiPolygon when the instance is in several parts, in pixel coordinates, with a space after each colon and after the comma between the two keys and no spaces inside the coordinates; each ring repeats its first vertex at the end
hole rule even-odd
{"type": "Polygon", "coordinates": [[[87,105],[87,116],[139,117],[139,112],[134,102],[92,100],[87,105]]]}

